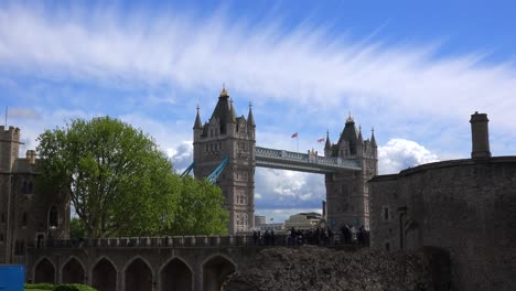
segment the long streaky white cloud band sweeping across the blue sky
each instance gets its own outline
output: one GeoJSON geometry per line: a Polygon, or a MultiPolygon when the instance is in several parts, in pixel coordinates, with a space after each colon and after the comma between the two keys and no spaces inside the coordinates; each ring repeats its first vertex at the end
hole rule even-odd
{"type": "Polygon", "coordinates": [[[352,42],[316,23],[281,31],[273,21],[246,23],[224,12],[208,19],[181,11],[82,12],[0,10],[0,63],[110,86],[165,83],[196,90],[226,80],[244,95],[333,112],[344,101],[381,108],[385,116],[483,110],[515,128],[506,108],[516,107],[516,69],[483,63],[482,52],[442,58],[439,44],[352,42]]]}

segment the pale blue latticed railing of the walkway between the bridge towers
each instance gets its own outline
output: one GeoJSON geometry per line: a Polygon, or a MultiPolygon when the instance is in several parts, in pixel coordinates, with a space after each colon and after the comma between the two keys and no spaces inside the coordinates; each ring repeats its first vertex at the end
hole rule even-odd
{"type": "Polygon", "coordinates": [[[275,150],[268,148],[256,147],[257,162],[260,160],[273,160],[277,162],[294,162],[307,164],[309,166],[320,165],[330,169],[342,170],[361,170],[361,164],[356,159],[342,159],[321,157],[316,153],[300,153],[283,150],[275,150]]]}

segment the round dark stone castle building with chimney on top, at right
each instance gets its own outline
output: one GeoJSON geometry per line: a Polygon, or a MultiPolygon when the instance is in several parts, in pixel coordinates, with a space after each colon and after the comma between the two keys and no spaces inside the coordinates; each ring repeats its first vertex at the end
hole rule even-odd
{"type": "Polygon", "coordinates": [[[448,254],[445,290],[516,290],[516,157],[491,157],[485,114],[470,122],[471,159],[369,181],[370,244],[448,254]]]}

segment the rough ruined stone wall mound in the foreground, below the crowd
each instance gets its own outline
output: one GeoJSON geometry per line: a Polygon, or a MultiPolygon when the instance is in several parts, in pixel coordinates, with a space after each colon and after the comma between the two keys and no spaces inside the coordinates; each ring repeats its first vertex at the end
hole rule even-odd
{"type": "Polygon", "coordinates": [[[350,250],[265,249],[240,266],[225,290],[449,290],[449,261],[440,251],[350,250]]]}

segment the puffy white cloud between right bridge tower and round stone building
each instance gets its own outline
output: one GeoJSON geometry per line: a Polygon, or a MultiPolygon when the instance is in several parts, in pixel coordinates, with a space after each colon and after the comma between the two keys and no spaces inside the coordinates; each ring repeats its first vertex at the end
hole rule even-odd
{"type": "Polygon", "coordinates": [[[378,148],[380,174],[393,174],[422,163],[439,161],[438,157],[423,146],[410,140],[391,139],[378,148]]]}

